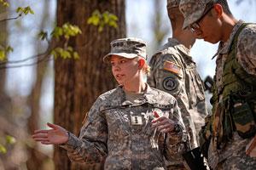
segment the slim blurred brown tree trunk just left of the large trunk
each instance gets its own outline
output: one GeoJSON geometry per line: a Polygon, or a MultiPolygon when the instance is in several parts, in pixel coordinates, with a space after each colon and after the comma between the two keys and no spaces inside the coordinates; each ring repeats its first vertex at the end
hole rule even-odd
{"type": "MultiPolygon", "coordinates": [[[[44,30],[44,27],[47,26],[49,23],[49,1],[45,1],[44,4],[42,4],[43,8],[43,16],[41,18],[41,26],[39,26],[40,30],[44,30]]],[[[38,54],[42,53],[42,48],[44,48],[44,45],[42,43],[39,43],[38,46],[36,46],[38,49],[38,54]]],[[[45,57],[45,56],[42,56],[45,57]]],[[[40,111],[40,98],[42,96],[42,84],[44,81],[45,73],[47,72],[47,65],[49,65],[49,62],[44,60],[43,62],[38,63],[38,65],[35,65],[36,70],[36,81],[32,87],[32,93],[30,94],[28,98],[28,105],[31,106],[31,116],[28,118],[27,126],[29,133],[33,133],[36,129],[38,129],[38,123],[39,123],[39,111],[40,111]]],[[[34,148],[28,147],[28,160],[26,161],[26,166],[28,170],[33,169],[43,169],[45,160],[49,159],[49,156],[45,156],[41,152],[38,151],[38,145],[35,145],[34,148]]]]}

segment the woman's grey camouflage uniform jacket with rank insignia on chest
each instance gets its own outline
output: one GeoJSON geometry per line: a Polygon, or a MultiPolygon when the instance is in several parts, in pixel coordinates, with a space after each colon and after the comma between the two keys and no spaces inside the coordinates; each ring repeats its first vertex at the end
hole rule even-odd
{"type": "Polygon", "coordinates": [[[101,162],[104,168],[166,169],[164,157],[181,161],[187,134],[177,101],[170,94],[149,88],[132,103],[122,87],[102,94],[91,107],[79,138],[69,133],[63,145],[72,161],[101,162]],[[159,133],[151,127],[153,111],[177,123],[177,132],[159,133]]]}

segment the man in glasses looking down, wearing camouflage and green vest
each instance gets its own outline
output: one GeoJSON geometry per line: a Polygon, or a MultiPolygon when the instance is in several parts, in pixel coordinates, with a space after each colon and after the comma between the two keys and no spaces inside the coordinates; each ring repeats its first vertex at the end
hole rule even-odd
{"type": "Polygon", "coordinates": [[[201,131],[209,164],[212,169],[256,169],[256,25],[236,20],[226,0],[181,0],[180,10],[183,28],[220,42],[212,118],[201,131]]]}

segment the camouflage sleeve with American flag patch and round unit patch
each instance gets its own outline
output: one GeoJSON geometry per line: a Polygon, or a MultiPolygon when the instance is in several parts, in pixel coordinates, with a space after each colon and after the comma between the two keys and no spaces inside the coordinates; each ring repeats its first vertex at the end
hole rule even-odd
{"type": "MultiPolygon", "coordinates": [[[[177,99],[177,104],[182,111],[183,123],[186,125],[186,130],[189,133],[189,141],[194,148],[197,146],[195,123],[192,120],[189,112],[189,99],[185,91],[185,73],[183,65],[180,62],[180,57],[177,54],[154,54],[149,64],[152,68],[153,78],[149,78],[150,82],[154,83],[154,88],[172,94],[177,99]],[[165,65],[165,63],[171,65],[165,65]],[[175,70],[174,68],[179,69],[175,70]],[[172,67],[172,68],[170,68],[172,67]]],[[[198,113],[196,113],[198,114],[198,113]]],[[[205,114],[205,113],[203,113],[205,114]]],[[[201,122],[200,122],[201,125],[201,122]]]]}

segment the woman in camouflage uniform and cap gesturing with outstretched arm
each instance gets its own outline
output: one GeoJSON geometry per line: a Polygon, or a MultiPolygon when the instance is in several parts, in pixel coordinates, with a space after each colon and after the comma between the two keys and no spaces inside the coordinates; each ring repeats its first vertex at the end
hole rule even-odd
{"type": "Polygon", "coordinates": [[[164,159],[181,162],[188,135],[170,94],[143,82],[148,72],[146,44],[137,38],[111,42],[111,63],[119,87],[96,99],[79,138],[49,123],[33,139],[61,144],[72,161],[102,162],[105,169],[166,169],[164,159]]]}

